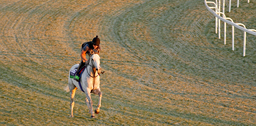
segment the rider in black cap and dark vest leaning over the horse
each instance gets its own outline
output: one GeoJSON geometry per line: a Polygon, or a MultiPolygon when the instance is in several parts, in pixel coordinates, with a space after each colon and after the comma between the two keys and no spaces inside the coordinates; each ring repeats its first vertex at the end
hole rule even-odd
{"type": "MultiPolygon", "coordinates": [[[[82,66],[87,64],[86,54],[88,54],[90,56],[91,55],[90,52],[91,52],[92,49],[99,49],[98,52],[100,52],[100,50],[101,50],[100,42],[101,42],[100,39],[98,38],[98,36],[96,36],[92,39],[92,41],[85,42],[84,44],[82,44],[82,46],[81,46],[81,55],[80,55],[81,56],[81,63],[79,63],[79,66],[77,67],[76,72],[78,70],[80,70],[82,66]]],[[[74,77],[74,80],[79,81],[75,77],[74,77]]]]}

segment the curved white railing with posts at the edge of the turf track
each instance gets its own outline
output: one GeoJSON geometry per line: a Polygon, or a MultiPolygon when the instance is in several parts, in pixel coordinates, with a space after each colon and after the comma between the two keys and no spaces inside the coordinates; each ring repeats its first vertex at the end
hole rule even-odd
{"type": "MultiPolygon", "coordinates": [[[[242,23],[234,23],[232,19],[230,18],[226,18],[225,14],[224,14],[224,6],[225,6],[225,2],[223,2],[223,12],[219,12],[220,11],[220,0],[219,2],[217,2],[217,0],[215,0],[216,3],[214,2],[208,2],[206,0],[204,0],[204,5],[206,6],[206,8],[208,9],[209,12],[211,12],[214,16],[215,16],[215,32],[217,33],[217,27],[219,27],[219,39],[220,39],[220,20],[222,20],[224,22],[224,44],[226,44],[226,23],[232,25],[232,50],[234,50],[234,26],[240,30],[243,30],[244,31],[244,49],[243,49],[243,56],[245,56],[245,45],[246,45],[246,32],[252,34],[252,35],[255,35],[256,36],[256,30],[255,29],[246,29],[246,27],[244,26],[244,24],[242,23]],[[207,3],[214,3],[214,7],[209,7],[207,5],[207,3]],[[215,12],[212,10],[212,9],[215,9],[215,12]],[[217,9],[219,10],[218,12],[217,9]],[[220,14],[222,14],[223,17],[220,16],[220,14]],[[218,21],[217,21],[217,18],[218,18],[218,21]],[[229,19],[229,20],[227,20],[229,19]],[[218,26],[217,26],[217,23],[218,23],[218,26]],[[242,25],[244,27],[241,27],[239,25],[242,25]]],[[[231,0],[229,0],[229,7],[230,7],[230,2],[231,0]]],[[[249,0],[248,0],[249,2],[249,0]]],[[[239,3],[239,0],[238,2],[239,3]]]]}

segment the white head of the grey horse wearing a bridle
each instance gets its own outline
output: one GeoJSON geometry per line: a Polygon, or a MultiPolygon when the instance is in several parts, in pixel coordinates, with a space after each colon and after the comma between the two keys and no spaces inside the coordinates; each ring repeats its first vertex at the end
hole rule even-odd
{"type": "Polygon", "coordinates": [[[100,66],[100,56],[99,56],[99,49],[92,49],[91,50],[91,58],[90,58],[90,65],[94,66],[98,73],[101,73],[101,66],[100,66]]]}

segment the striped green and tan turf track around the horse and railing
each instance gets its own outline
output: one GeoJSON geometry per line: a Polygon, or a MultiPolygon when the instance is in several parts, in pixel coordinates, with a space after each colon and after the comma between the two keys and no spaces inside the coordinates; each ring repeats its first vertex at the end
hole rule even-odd
{"type": "MultiPolygon", "coordinates": [[[[256,29],[255,1],[232,1],[234,22],[256,29]]],[[[226,7],[226,11],[227,11],[226,7]]],[[[158,58],[189,32],[207,9],[200,0],[1,0],[0,125],[256,125],[256,37],[231,26],[227,44],[215,34],[215,21],[201,24],[166,64],[158,58]],[[69,69],[80,59],[80,46],[96,35],[102,51],[100,114],[90,118],[85,94],[75,95],[70,118],[69,69]],[[132,88],[154,62],[152,83],[132,88]],[[115,116],[108,115],[120,101],[115,116]]],[[[92,94],[93,107],[98,96],[92,94]]]]}

